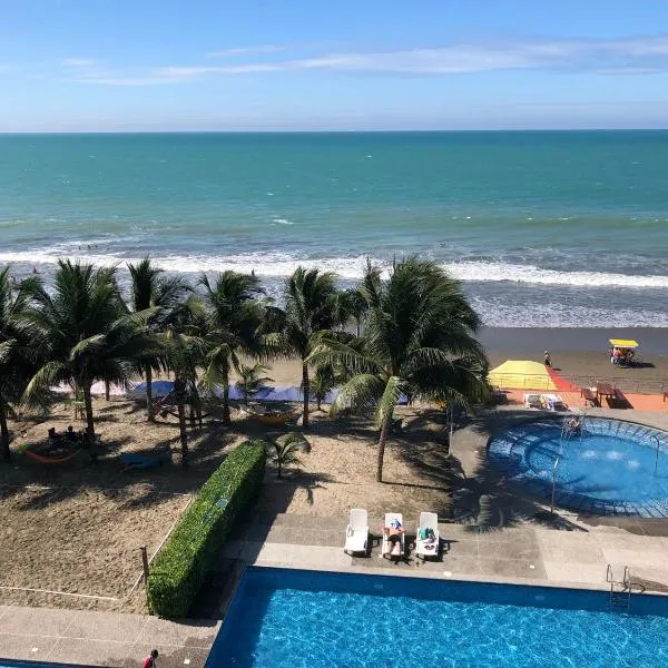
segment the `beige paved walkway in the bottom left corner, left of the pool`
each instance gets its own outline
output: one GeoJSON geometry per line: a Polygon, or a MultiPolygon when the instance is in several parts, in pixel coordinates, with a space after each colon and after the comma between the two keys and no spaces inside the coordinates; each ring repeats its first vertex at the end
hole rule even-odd
{"type": "Polygon", "coordinates": [[[141,615],[0,606],[0,656],[125,667],[140,666],[155,647],[160,668],[203,668],[219,626],[215,620],[175,623],[141,615]]]}

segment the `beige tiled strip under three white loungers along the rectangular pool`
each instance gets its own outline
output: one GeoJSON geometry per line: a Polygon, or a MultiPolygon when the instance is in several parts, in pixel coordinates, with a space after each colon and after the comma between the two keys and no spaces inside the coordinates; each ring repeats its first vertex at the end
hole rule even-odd
{"type": "MultiPolygon", "coordinates": [[[[380,518],[372,518],[371,553],[351,557],[342,549],[345,519],[278,515],[256,520],[243,538],[232,541],[226,560],[257,566],[311,568],[344,572],[392,572],[402,576],[534,582],[606,589],[610,563],[621,578],[629,566],[648,590],[668,591],[668,538],[635,536],[613,527],[570,531],[527,524],[481,531],[461,524],[440,524],[439,560],[416,559],[409,551],[400,563],[380,558],[380,518]],[[373,531],[375,529],[375,536],[373,531]]],[[[406,520],[410,543],[415,522],[406,520]]]]}

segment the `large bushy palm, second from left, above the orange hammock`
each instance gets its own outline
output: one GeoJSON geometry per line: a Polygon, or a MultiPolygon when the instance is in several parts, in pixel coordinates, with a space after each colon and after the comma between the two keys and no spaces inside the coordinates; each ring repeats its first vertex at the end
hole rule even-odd
{"type": "Polygon", "coordinates": [[[58,261],[52,293],[36,291],[36,307],[27,313],[36,345],[47,362],[30,380],[29,403],[61,382],[84,395],[87,433],[95,443],[90,387],[97,380],[127,384],[138,360],[157,348],[147,321],[151,310],[125,313],[115,268],[58,261]]]}

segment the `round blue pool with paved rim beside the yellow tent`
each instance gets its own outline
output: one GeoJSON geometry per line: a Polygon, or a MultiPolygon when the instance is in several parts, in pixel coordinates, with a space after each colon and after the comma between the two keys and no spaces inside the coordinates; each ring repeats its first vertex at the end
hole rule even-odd
{"type": "Polygon", "coordinates": [[[493,438],[489,459],[509,479],[581,512],[668,517],[668,434],[631,422],[586,418],[562,438],[562,420],[539,420],[493,438]],[[658,450],[658,456],[657,456],[658,450]],[[556,465],[554,465],[556,464],[556,465]]]}

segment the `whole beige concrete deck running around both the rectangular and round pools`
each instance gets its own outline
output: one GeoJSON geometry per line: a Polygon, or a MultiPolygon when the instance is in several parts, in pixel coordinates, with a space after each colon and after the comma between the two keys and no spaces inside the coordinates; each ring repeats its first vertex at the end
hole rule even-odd
{"type": "MultiPolygon", "coordinates": [[[[668,429],[668,412],[591,414],[668,429]]],[[[466,485],[453,492],[453,517],[441,518],[446,521],[440,522],[438,561],[423,562],[410,551],[396,564],[379,558],[381,517],[370,518],[370,553],[351,557],[343,552],[346,517],[252,513],[219,557],[214,584],[222,595],[207,610],[212,619],[177,623],[139,615],[0,606],[0,656],[125,668],[140,665],[157,647],[159,668],[203,668],[234,582],[248,564],[603,591],[609,590],[611,564],[617,579],[628,566],[633,581],[648,592],[668,592],[668,520],[580,517],[560,509],[554,519],[544,500],[508,485],[487,466],[490,430],[532,415],[539,413],[502,409],[488,414],[484,424],[455,432],[451,452],[462,464],[466,485]]],[[[410,543],[418,518],[404,520],[410,543]]]]}

